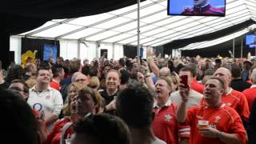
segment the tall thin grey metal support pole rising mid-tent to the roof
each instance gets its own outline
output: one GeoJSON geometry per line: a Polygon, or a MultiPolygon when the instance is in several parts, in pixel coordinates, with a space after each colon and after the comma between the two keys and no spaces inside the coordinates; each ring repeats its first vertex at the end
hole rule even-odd
{"type": "Polygon", "coordinates": [[[141,69],[141,62],[140,62],[140,30],[139,30],[139,22],[140,22],[140,0],[137,0],[138,2],[138,27],[137,27],[137,34],[138,34],[138,46],[137,46],[137,62],[138,62],[138,70],[141,69]]]}

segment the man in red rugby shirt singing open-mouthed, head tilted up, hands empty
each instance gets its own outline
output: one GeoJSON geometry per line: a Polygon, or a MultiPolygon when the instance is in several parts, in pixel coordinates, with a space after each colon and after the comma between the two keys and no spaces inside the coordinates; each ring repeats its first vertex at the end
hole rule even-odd
{"type": "Polygon", "coordinates": [[[167,144],[178,144],[178,121],[175,117],[177,106],[171,102],[171,81],[169,78],[159,78],[155,83],[154,93],[157,102],[154,103],[154,135],[167,144]]]}

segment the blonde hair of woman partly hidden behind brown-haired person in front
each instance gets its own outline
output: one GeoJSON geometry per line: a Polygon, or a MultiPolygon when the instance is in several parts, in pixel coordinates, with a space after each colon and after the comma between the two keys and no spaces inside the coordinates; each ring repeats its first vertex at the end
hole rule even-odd
{"type": "Polygon", "coordinates": [[[82,87],[84,87],[84,85],[82,85],[81,83],[78,83],[78,82],[72,82],[70,84],[69,89],[67,90],[66,101],[63,106],[63,114],[65,116],[70,116],[70,103],[71,103],[70,88],[71,88],[71,86],[74,86],[74,89],[77,90],[77,92],[78,92],[78,90],[82,89],[82,87]]]}

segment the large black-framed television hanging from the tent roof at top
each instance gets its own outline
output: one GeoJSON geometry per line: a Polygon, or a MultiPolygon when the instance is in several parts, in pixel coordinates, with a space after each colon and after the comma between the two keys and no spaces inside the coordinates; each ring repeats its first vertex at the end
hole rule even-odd
{"type": "Polygon", "coordinates": [[[168,0],[169,15],[224,17],[226,0],[168,0]]]}

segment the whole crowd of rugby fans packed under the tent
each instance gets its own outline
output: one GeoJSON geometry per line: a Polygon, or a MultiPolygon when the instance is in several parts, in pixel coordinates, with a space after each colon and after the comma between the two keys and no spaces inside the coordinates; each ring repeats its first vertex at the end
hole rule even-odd
{"type": "Polygon", "coordinates": [[[256,143],[250,58],[105,56],[1,69],[2,141],[15,132],[31,144],[256,143]]]}

